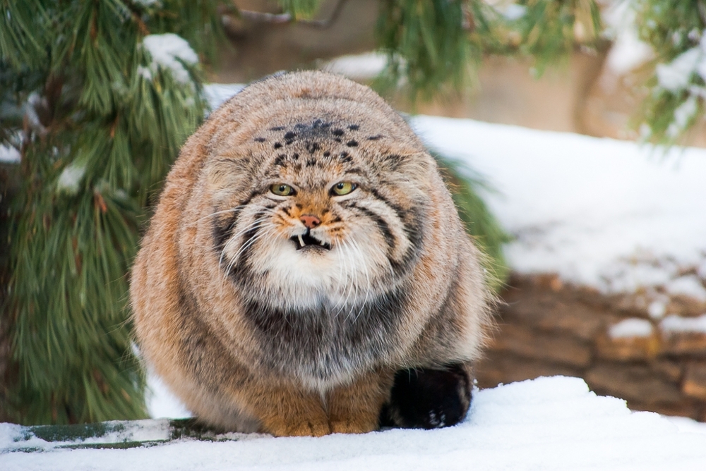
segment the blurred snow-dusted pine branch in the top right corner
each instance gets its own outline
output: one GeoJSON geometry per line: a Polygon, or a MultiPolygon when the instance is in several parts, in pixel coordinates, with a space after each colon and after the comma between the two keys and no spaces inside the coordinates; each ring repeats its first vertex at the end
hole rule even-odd
{"type": "Polygon", "coordinates": [[[671,145],[705,113],[706,1],[632,0],[632,6],[640,39],[655,53],[640,131],[645,140],[671,145]]]}

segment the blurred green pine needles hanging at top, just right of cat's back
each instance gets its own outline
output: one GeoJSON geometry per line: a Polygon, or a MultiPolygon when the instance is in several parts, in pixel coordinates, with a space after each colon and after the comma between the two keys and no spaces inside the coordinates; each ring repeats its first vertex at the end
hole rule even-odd
{"type": "Polygon", "coordinates": [[[521,54],[539,75],[576,44],[593,47],[602,30],[594,0],[522,0],[503,15],[484,0],[385,0],[378,44],[388,56],[377,86],[402,85],[412,102],[462,90],[484,54],[521,54]]]}

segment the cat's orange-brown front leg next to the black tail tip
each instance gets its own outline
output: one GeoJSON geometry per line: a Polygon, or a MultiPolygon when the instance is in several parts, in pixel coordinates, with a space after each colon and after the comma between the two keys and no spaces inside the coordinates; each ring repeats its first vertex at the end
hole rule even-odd
{"type": "Polygon", "coordinates": [[[377,430],[380,409],[390,398],[392,370],[369,372],[330,391],[327,408],[331,432],[364,434],[377,430]]]}

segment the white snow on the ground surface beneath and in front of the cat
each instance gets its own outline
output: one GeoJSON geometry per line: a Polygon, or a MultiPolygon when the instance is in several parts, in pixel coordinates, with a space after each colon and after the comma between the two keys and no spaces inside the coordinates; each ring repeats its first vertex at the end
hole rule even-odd
{"type": "MultiPolygon", "coordinates": [[[[140,422],[142,432],[133,429],[122,438],[129,441],[141,433],[160,439],[164,423],[140,422]]],[[[17,426],[1,424],[0,468],[688,471],[702,470],[706,461],[706,435],[700,432],[695,424],[678,427],[653,412],[630,412],[623,400],[590,392],[582,379],[551,377],[475,391],[464,422],[431,431],[277,439],[229,434],[226,441],[180,439],[124,450],[71,451],[29,437],[34,446],[49,451],[8,453],[23,446],[25,437],[17,426]]]]}

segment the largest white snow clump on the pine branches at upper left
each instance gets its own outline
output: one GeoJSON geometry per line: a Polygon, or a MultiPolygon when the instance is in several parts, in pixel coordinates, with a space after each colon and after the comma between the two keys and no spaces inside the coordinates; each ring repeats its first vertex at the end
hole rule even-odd
{"type": "MultiPolygon", "coordinates": [[[[152,56],[150,70],[157,72],[158,67],[162,67],[172,72],[174,80],[181,83],[190,83],[189,72],[184,68],[184,63],[193,65],[198,63],[196,52],[191,49],[186,39],[174,33],[164,35],[147,35],[143,39],[143,47],[152,56]]],[[[139,73],[145,76],[143,69],[139,73]]],[[[145,77],[147,78],[147,77],[145,77]]],[[[151,78],[151,75],[150,75],[151,78]]]]}

